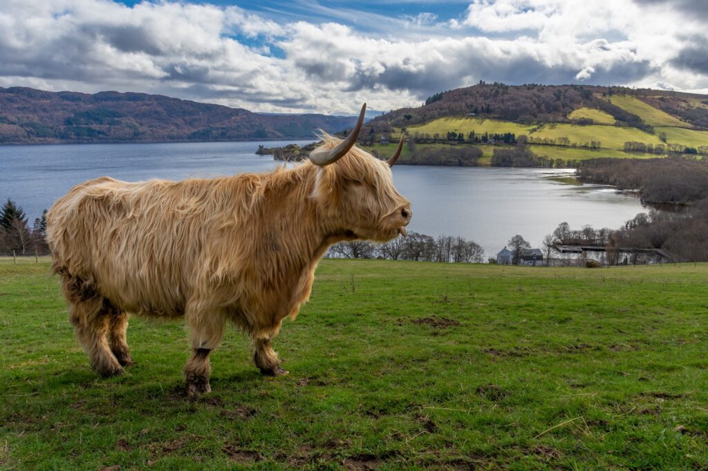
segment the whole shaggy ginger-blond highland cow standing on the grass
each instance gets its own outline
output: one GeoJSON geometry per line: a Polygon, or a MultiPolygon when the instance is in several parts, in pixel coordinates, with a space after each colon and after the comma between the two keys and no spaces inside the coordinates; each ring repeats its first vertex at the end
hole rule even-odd
{"type": "Polygon", "coordinates": [[[132,364],[128,313],[183,317],[188,395],[211,390],[209,355],[232,322],[268,376],[287,374],[271,342],[309,298],[317,262],[343,240],[406,235],[411,204],[389,161],[354,146],[366,105],[340,141],[324,135],[290,170],[180,182],[103,177],[72,188],[47,215],[52,269],[69,318],[102,376],[132,364]]]}

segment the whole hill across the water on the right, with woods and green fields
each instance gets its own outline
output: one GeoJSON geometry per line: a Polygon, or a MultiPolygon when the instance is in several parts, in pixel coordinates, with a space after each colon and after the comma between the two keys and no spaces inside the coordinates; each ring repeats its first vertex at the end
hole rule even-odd
{"type": "Polygon", "coordinates": [[[401,132],[416,141],[402,163],[438,163],[416,154],[440,144],[453,149],[448,149],[445,165],[503,165],[509,159],[495,160],[495,153],[513,148],[523,154],[512,159],[518,165],[540,166],[570,166],[598,157],[708,155],[708,95],[481,82],[436,93],[421,107],[376,117],[366,124],[360,141],[384,154],[387,142],[401,132]],[[525,136],[522,144],[530,144],[523,152],[515,145],[519,136],[525,136]],[[466,147],[478,147],[478,157],[469,158],[466,147]],[[458,159],[451,158],[454,149],[458,159]]]}

